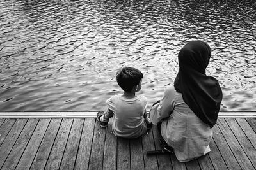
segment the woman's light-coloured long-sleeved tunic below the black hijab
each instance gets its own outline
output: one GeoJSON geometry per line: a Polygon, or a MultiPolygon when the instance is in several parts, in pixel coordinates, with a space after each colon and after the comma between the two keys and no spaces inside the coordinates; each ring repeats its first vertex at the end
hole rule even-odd
{"type": "Polygon", "coordinates": [[[167,87],[161,102],[151,108],[150,120],[153,124],[163,120],[161,134],[180,162],[211,151],[212,129],[193,113],[173,86],[167,87]]]}

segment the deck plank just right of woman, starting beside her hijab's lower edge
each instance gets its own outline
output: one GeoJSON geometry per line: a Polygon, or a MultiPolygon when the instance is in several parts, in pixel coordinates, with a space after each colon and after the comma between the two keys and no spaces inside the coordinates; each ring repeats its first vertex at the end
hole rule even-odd
{"type": "Polygon", "coordinates": [[[230,127],[228,127],[227,122],[224,119],[219,119],[217,122],[218,127],[220,127],[223,136],[225,137],[228,145],[230,146],[232,152],[234,153],[237,162],[241,166],[242,169],[254,169],[250,160],[246,156],[243,151],[243,148],[239,145],[236,137],[234,136],[233,132],[231,131],[230,127]]]}

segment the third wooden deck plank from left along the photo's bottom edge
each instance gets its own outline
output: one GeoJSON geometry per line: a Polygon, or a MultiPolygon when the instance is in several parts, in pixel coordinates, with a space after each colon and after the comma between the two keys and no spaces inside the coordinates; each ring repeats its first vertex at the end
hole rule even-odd
{"type": "Polygon", "coordinates": [[[51,152],[54,139],[56,138],[56,134],[60,127],[60,124],[61,124],[61,118],[53,118],[51,120],[49,127],[45,132],[45,136],[42,140],[42,143],[38,148],[38,152],[33,161],[33,164],[31,165],[31,169],[44,169],[48,156],[51,152]]]}

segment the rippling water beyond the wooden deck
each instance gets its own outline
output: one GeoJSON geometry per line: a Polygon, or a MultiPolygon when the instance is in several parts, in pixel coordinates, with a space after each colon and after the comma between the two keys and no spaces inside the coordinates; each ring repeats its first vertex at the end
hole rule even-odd
{"type": "Polygon", "coordinates": [[[221,111],[256,111],[253,0],[0,0],[0,111],[105,110],[121,66],[140,69],[148,108],[188,41],[209,43],[221,111]]]}

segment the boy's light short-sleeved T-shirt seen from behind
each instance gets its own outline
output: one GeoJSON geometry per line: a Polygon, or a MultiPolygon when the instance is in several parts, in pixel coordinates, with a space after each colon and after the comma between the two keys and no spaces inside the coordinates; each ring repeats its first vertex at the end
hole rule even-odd
{"type": "Polygon", "coordinates": [[[114,113],[112,131],[115,136],[137,138],[147,131],[143,117],[147,107],[146,97],[127,99],[122,94],[116,94],[109,98],[106,104],[114,113]]]}

